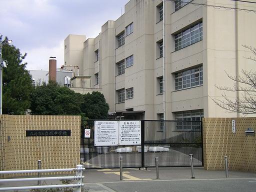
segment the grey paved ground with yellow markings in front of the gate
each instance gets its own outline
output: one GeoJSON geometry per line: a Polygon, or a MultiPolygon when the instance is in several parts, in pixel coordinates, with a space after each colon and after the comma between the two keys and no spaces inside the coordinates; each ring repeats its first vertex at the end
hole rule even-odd
{"type": "MultiPolygon", "coordinates": [[[[123,180],[119,180],[119,169],[90,169],[84,171],[84,188],[89,192],[154,192],[154,191],[256,191],[256,173],[229,171],[206,171],[194,167],[195,178],[191,179],[189,167],[159,168],[156,179],[155,168],[138,170],[124,168],[123,180]]],[[[58,181],[48,181],[49,184],[58,181]]],[[[36,181],[0,183],[3,186],[36,185],[36,181]]],[[[20,190],[21,191],[21,190],[20,190]]]]}

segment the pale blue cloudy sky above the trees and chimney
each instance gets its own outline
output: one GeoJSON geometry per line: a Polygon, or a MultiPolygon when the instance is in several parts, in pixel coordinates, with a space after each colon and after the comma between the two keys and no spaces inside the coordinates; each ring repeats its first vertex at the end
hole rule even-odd
{"type": "Polygon", "coordinates": [[[129,0],[0,0],[0,34],[12,40],[28,70],[48,70],[49,56],[57,68],[64,62],[68,34],[94,38],[107,20],[116,20],[129,0]]]}

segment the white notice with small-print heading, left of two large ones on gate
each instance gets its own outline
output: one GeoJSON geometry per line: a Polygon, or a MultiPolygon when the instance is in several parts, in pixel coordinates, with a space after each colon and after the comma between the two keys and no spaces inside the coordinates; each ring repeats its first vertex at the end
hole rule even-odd
{"type": "Polygon", "coordinates": [[[94,145],[108,146],[118,144],[118,121],[94,121],[94,145]]]}

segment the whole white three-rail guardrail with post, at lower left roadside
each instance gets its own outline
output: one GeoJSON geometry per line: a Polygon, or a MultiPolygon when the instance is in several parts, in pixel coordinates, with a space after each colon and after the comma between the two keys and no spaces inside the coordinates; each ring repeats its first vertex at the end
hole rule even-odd
{"type": "Polygon", "coordinates": [[[73,184],[51,184],[51,185],[36,185],[36,186],[15,186],[15,187],[0,187],[0,190],[21,190],[21,189],[37,189],[37,188],[62,188],[62,187],[75,187],[75,192],[80,192],[82,183],[82,168],[81,164],[77,164],[76,168],[54,168],[54,169],[34,169],[34,170],[3,170],[0,174],[15,174],[15,173],[32,173],[32,172],[60,172],[60,171],[75,171],[75,176],[51,176],[51,177],[33,177],[33,178],[5,178],[0,179],[0,182],[16,182],[16,181],[31,181],[31,180],[55,180],[55,179],[68,179],[76,180],[73,184]]]}

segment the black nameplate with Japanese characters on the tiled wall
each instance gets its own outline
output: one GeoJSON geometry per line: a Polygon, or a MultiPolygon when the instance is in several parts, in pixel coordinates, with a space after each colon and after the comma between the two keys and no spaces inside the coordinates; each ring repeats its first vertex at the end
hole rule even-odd
{"type": "Polygon", "coordinates": [[[26,136],[70,136],[71,130],[26,130],[26,136]]]}

